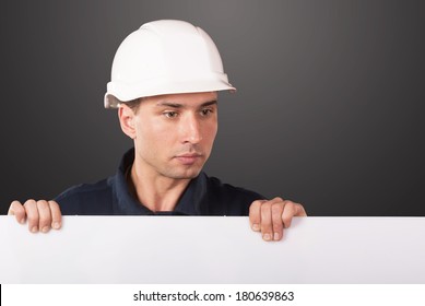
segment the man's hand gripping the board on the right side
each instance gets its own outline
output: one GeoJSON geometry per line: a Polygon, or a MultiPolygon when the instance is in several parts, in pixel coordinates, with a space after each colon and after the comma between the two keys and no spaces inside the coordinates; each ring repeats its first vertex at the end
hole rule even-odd
{"type": "Polygon", "coordinates": [[[253,201],[249,208],[252,231],[261,232],[267,242],[282,239],[283,229],[291,226],[293,216],[307,216],[307,213],[302,204],[279,197],[253,201]]]}

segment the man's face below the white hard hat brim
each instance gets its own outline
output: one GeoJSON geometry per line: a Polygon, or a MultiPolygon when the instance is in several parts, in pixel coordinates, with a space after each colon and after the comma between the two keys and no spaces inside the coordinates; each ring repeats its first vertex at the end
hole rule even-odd
{"type": "Polygon", "coordinates": [[[170,94],[143,98],[133,118],[141,175],[194,178],[217,132],[217,94],[170,94]]]}

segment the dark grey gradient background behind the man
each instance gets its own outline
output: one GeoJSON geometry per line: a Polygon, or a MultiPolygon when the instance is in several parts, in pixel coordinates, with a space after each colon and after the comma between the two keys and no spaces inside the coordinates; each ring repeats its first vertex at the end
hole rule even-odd
{"type": "Polygon", "coordinates": [[[221,50],[206,172],[310,215],[425,215],[425,2],[2,1],[0,209],[116,172],[120,42],[181,19],[221,50]]]}

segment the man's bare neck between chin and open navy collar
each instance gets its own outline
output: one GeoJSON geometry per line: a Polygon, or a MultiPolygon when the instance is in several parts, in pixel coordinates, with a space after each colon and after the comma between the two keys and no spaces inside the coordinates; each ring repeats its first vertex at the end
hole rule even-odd
{"type": "Polygon", "coordinates": [[[174,211],[190,179],[173,179],[131,166],[128,183],[133,196],[151,211],[174,211]]]}

